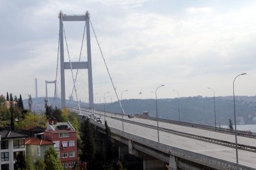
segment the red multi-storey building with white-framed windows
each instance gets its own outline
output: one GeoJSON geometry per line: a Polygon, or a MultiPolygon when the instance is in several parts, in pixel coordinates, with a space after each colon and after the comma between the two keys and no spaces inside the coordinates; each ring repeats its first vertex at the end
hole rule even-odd
{"type": "Polygon", "coordinates": [[[75,128],[69,122],[57,122],[49,119],[44,132],[45,140],[54,142],[62,166],[71,170],[77,160],[75,128]]]}

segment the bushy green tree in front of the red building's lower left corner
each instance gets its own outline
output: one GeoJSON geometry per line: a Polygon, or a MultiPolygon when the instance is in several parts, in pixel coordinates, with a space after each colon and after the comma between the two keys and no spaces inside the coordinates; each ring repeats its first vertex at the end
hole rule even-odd
{"type": "Polygon", "coordinates": [[[49,149],[45,150],[45,165],[47,165],[47,170],[64,169],[58,158],[58,153],[56,153],[52,145],[49,147],[49,149]]]}

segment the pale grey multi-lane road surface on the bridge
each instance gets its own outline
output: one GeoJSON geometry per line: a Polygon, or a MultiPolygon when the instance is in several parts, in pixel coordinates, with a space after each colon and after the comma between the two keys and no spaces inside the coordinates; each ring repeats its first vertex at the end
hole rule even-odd
{"type": "MultiPolygon", "coordinates": [[[[104,123],[104,112],[97,111],[98,115],[101,114],[102,123],[104,123]]],[[[89,112],[82,111],[82,114],[89,114],[89,112]]],[[[122,118],[121,114],[111,114],[107,113],[107,116],[113,116],[115,118],[122,118]]],[[[111,117],[106,117],[108,125],[115,129],[122,130],[122,121],[116,120],[111,117]]],[[[124,116],[124,120],[132,120],[134,122],[146,123],[149,125],[157,125],[154,120],[146,120],[142,118],[128,118],[124,116]]],[[[173,129],[176,131],[181,131],[190,134],[196,134],[200,136],[209,136],[211,138],[216,138],[220,140],[225,140],[228,142],[235,142],[235,136],[231,134],[216,133],[214,131],[206,131],[203,129],[196,129],[192,127],[185,127],[181,125],[174,125],[170,123],[159,122],[159,127],[165,127],[168,129],[173,129]]],[[[130,134],[141,136],[142,138],[147,138],[157,142],[157,130],[148,127],[143,127],[140,125],[135,125],[134,123],[124,122],[124,131],[130,134]]],[[[224,145],[218,145],[215,143],[204,142],[201,140],[196,140],[193,138],[188,138],[185,136],[180,136],[176,134],[170,134],[163,131],[159,131],[159,142],[165,145],[170,145],[172,147],[177,147],[180,149],[185,149],[194,153],[200,153],[221,160],[226,160],[229,162],[236,162],[235,148],[226,147],[224,145]]],[[[238,136],[238,143],[244,145],[256,146],[255,138],[246,138],[238,136]]],[[[252,151],[244,151],[239,149],[239,164],[246,165],[248,167],[256,168],[256,153],[252,151]]]]}

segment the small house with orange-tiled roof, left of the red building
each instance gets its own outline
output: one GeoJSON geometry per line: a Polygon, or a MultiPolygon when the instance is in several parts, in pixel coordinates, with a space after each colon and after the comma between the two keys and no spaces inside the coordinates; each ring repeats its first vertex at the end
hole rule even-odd
{"type": "Polygon", "coordinates": [[[54,142],[41,140],[40,138],[31,137],[25,138],[26,153],[30,154],[33,162],[36,160],[44,159],[45,150],[49,149],[50,145],[54,145],[54,142]]]}

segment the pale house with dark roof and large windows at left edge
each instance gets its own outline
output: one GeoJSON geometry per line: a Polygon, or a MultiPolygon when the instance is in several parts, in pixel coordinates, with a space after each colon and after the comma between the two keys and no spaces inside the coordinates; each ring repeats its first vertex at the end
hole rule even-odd
{"type": "Polygon", "coordinates": [[[19,152],[25,155],[25,134],[11,131],[10,127],[0,129],[1,162],[0,170],[17,169],[16,161],[19,152]]]}

